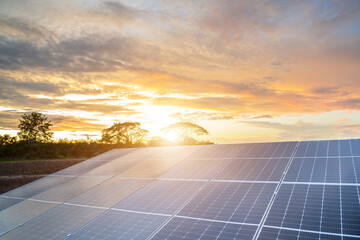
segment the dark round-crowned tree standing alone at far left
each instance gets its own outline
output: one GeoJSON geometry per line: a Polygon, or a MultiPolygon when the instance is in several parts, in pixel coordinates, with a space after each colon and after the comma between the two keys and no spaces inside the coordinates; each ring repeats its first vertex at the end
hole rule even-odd
{"type": "Polygon", "coordinates": [[[18,136],[21,140],[47,142],[53,137],[54,133],[50,131],[53,124],[42,113],[23,114],[19,121],[18,128],[20,132],[18,136]]]}

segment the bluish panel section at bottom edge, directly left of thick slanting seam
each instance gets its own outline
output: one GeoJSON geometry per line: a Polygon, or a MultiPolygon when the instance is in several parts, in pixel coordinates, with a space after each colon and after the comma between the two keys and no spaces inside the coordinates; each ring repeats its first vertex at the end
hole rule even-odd
{"type": "Polygon", "coordinates": [[[252,239],[256,226],[174,217],[153,238],[171,240],[252,239]]]}

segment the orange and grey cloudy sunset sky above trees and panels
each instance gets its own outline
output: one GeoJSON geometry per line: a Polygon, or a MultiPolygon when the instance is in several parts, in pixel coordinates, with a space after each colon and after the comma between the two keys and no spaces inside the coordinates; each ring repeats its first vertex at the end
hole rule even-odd
{"type": "Polygon", "coordinates": [[[178,121],[215,143],[360,138],[360,1],[0,1],[0,134],[178,121]]]}

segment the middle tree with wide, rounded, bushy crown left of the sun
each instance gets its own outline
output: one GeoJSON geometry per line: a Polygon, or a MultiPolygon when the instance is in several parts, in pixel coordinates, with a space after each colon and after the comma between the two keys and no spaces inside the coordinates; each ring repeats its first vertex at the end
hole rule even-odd
{"type": "Polygon", "coordinates": [[[101,131],[101,141],[105,143],[144,143],[149,132],[142,129],[139,122],[114,123],[101,131]]]}

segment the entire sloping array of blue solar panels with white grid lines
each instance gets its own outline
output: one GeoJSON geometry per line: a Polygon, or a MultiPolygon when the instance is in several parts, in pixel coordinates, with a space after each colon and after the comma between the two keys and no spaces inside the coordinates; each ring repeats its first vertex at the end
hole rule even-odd
{"type": "Polygon", "coordinates": [[[359,239],[360,140],[116,149],[0,195],[0,239],[359,239]]]}

